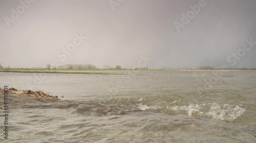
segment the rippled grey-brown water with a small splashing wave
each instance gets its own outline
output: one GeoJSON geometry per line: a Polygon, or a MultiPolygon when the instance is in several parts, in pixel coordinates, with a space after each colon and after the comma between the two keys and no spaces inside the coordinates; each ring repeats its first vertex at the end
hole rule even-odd
{"type": "Polygon", "coordinates": [[[256,142],[256,72],[115,73],[0,73],[62,100],[10,95],[8,141],[256,142]]]}

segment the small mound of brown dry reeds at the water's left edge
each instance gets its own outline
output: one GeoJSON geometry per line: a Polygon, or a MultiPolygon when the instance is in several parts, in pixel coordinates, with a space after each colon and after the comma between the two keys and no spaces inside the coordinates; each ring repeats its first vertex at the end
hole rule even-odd
{"type": "MultiPolygon", "coordinates": [[[[0,93],[4,93],[5,91],[0,88],[0,93]]],[[[31,91],[31,90],[16,90],[14,88],[8,89],[9,94],[24,94],[30,97],[37,97],[37,98],[47,98],[47,99],[53,99],[53,100],[60,100],[58,99],[58,96],[51,96],[45,92],[42,91],[31,91]]]]}

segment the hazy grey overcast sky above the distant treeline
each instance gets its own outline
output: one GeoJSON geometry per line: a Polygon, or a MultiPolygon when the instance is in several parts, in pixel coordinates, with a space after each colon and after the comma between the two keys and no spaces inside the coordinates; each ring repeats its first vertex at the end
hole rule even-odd
{"type": "Polygon", "coordinates": [[[42,67],[55,60],[58,65],[132,68],[146,54],[152,59],[149,68],[256,68],[256,44],[233,66],[227,62],[245,39],[256,41],[254,0],[205,0],[206,6],[179,32],[174,22],[181,23],[181,14],[191,11],[189,6],[198,5],[198,0],[124,0],[114,11],[109,0],[37,0],[13,19],[12,9],[17,12],[23,6],[20,1],[0,0],[4,67],[42,67]],[[12,19],[9,26],[6,17],[12,19]],[[76,34],[87,38],[63,60],[57,53],[63,54],[61,49],[72,44],[76,34]]]}

